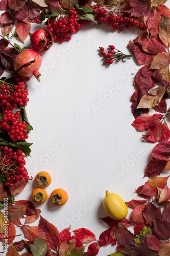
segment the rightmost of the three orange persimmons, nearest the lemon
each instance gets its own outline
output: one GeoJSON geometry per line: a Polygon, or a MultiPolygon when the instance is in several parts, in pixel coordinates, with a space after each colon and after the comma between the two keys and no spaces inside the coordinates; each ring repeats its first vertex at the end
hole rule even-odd
{"type": "Polygon", "coordinates": [[[56,206],[62,206],[67,202],[68,195],[64,189],[57,188],[52,192],[50,199],[56,206]]]}

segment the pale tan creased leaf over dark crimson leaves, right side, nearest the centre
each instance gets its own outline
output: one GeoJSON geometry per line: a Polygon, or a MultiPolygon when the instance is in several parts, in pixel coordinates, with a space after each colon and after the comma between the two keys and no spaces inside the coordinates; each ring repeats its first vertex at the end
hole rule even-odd
{"type": "Polygon", "coordinates": [[[152,89],[149,93],[144,94],[137,106],[137,109],[153,109],[154,106],[159,105],[165,91],[165,87],[157,87],[152,89]]]}

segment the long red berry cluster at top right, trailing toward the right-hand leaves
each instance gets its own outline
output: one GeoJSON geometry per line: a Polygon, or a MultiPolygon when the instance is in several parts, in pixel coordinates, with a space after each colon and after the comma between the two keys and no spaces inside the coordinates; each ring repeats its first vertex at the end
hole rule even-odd
{"type": "Polygon", "coordinates": [[[147,29],[142,20],[138,20],[130,15],[125,16],[125,14],[114,14],[115,10],[108,12],[108,10],[106,10],[106,8],[100,4],[93,5],[91,8],[94,10],[93,12],[95,13],[95,19],[102,23],[108,23],[108,25],[111,26],[114,31],[123,31],[124,24],[125,28],[132,27],[139,28],[141,30],[147,29]]]}

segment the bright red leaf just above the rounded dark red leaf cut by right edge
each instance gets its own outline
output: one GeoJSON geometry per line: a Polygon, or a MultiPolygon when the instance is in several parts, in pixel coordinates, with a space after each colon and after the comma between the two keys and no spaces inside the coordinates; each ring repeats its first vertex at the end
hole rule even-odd
{"type": "Polygon", "coordinates": [[[150,143],[155,143],[160,139],[161,131],[162,131],[162,122],[157,123],[154,126],[149,126],[148,134],[143,134],[142,139],[150,143]]]}

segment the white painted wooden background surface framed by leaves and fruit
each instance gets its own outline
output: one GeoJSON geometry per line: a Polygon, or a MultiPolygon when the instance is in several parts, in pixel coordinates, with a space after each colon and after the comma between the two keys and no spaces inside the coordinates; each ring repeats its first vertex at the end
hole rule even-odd
{"type": "MultiPolygon", "coordinates": [[[[166,6],[170,8],[169,1],[166,6]]],[[[41,26],[32,28],[31,32],[41,26]]],[[[103,66],[98,51],[99,46],[114,45],[129,54],[127,44],[140,32],[112,32],[107,25],[86,25],[69,42],[54,44],[42,53],[41,82],[34,77],[28,82],[27,113],[34,127],[28,142],[34,144],[26,165],[33,181],[15,199],[31,200],[35,175],[41,170],[49,172],[52,183],[46,188],[48,199],[37,206],[42,217],[59,231],[69,225],[71,231],[85,227],[99,239],[108,228],[99,220],[107,216],[105,191],[127,202],[137,198],[135,189],[148,180],[142,178],[155,145],[141,141],[142,134],[131,126],[130,98],[140,66],[134,58],[103,66]],[[50,202],[55,188],[68,193],[68,202],[62,207],[50,202]]],[[[19,41],[17,44],[22,46],[19,41]]],[[[128,217],[130,214],[129,209],[128,217]]],[[[38,221],[32,223],[36,224],[38,221]]],[[[22,231],[17,228],[19,233],[22,231]]],[[[98,255],[106,256],[115,248],[102,247],[98,255]]]]}

